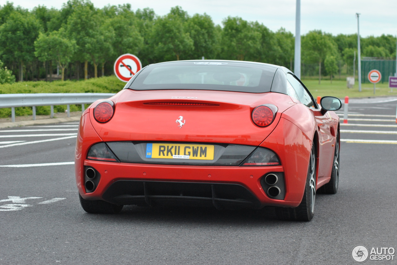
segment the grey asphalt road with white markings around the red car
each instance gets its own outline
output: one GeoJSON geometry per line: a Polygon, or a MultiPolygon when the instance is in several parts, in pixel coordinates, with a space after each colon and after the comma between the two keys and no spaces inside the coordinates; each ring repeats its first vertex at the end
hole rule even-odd
{"type": "Polygon", "coordinates": [[[341,125],[339,191],[317,195],[310,222],[279,221],[272,208],[87,214],[74,177],[78,123],[0,129],[0,265],[356,264],[357,245],[396,249],[397,101],[356,101],[341,125]]]}

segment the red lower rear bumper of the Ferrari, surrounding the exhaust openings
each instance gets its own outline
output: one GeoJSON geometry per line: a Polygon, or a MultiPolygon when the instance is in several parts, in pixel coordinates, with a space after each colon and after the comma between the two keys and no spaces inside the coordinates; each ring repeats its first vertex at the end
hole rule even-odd
{"type": "MultiPolygon", "coordinates": [[[[87,200],[104,200],[114,204],[189,205],[216,208],[263,206],[296,207],[301,198],[285,178],[285,197],[273,199],[266,194],[264,176],[282,172],[283,166],[187,166],[113,163],[84,160],[84,168],[92,167],[100,179],[93,192],[86,192],[85,180],[77,182],[79,193],[87,200]],[[262,180],[262,184],[261,184],[262,180]]],[[[298,193],[299,194],[299,193],[298,193]]]]}

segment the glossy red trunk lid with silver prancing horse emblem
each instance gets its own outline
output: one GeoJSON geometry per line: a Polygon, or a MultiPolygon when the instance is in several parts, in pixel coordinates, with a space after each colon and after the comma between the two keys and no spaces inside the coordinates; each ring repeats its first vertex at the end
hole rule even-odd
{"type": "Polygon", "coordinates": [[[92,118],[94,129],[106,142],[216,142],[252,146],[258,146],[274,130],[281,113],[294,104],[289,96],[280,93],[202,90],[125,89],[111,100],[116,106],[108,123],[100,124],[92,118]],[[278,107],[273,123],[264,128],[251,119],[252,110],[261,104],[278,107]]]}

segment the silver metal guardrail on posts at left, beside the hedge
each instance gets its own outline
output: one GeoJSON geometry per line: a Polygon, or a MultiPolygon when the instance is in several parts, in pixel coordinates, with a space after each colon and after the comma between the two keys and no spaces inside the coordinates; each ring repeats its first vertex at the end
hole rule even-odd
{"type": "Polygon", "coordinates": [[[101,98],[110,98],[113,93],[35,93],[35,94],[0,94],[0,108],[11,108],[12,122],[15,122],[15,108],[32,107],[33,119],[36,119],[36,106],[51,106],[51,117],[54,117],[54,106],[67,105],[67,117],[70,117],[70,105],[93,103],[101,98]]]}

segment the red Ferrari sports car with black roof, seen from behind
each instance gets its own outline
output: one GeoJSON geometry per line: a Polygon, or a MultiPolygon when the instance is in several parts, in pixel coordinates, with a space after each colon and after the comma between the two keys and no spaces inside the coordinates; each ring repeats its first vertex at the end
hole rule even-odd
{"type": "Polygon", "coordinates": [[[336,193],[339,178],[341,101],[320,104],[282,66],[150,64],[81,117],[81,206],[276,206],[282,219],[311,220],[317,191],[336,193]]]}

